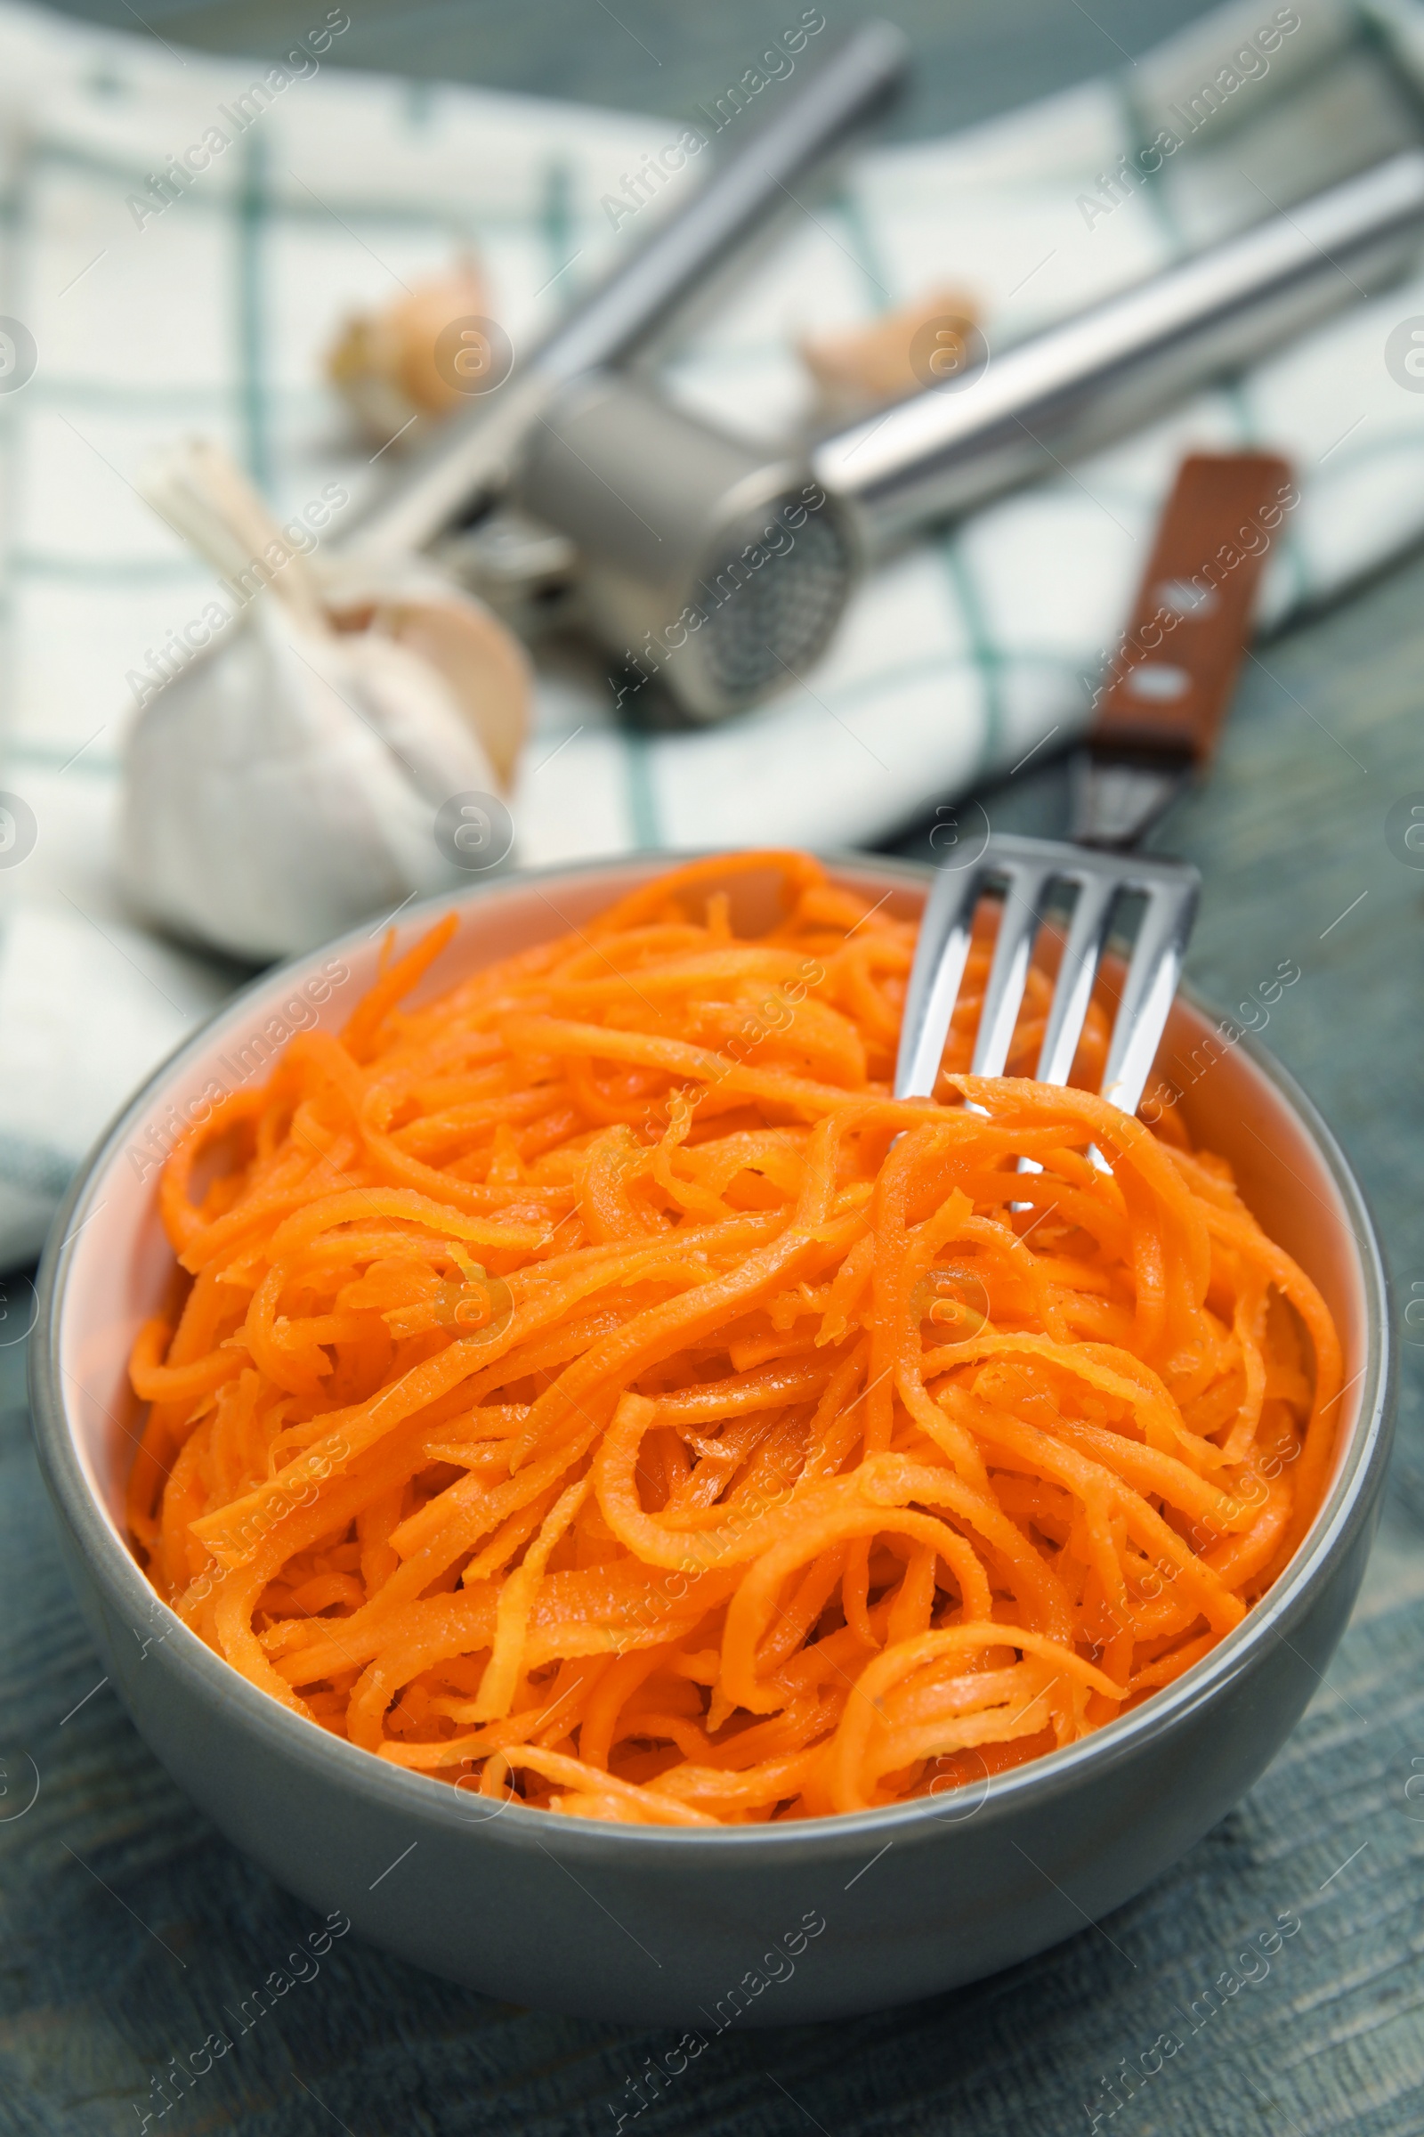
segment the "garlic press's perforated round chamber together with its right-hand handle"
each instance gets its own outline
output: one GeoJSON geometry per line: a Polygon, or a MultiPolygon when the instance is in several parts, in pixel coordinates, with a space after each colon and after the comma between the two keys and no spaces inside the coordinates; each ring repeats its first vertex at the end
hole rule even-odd
{"type": "Polygon", "coordinates": [[[805,673],[865,560],[1354,301],[1403,265],[1420,227],[1424,154],[1409,152],[1008,350],[959,391],[931,387],[824,440],[809,462],[604,370],[540,406],[508,500],[568,541],[564,615],[632,686],[658,677],[683,714],[724,718],[805,673]]]}

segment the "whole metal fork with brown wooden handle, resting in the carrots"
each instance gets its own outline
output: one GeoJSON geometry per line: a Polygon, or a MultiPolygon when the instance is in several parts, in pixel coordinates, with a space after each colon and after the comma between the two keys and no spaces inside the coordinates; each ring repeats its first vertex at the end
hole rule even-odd
{"type": "Polygon", "coordinates": [[[939,870],[909,972],[897,1098],[929,1098],[935,1090],[980,898],[997,889],[1001,910],[971,1073],[1003,1075],[1044,912],[1072,893],[1035,1075],[1040,1083],[1067,1083],[1114,917],[1127,898],[1140,898],[1102,1079],[1102,1096],[1136,1113],[1176,996],[1202,878],[1185,861],[1119,848],[1142,838],[1211,756],[1289,496],[1289,468],[1270,453],[1193,453],[1183,462],[1074,767],[1076,844],[991,833],[971,863],[939,870]]]}

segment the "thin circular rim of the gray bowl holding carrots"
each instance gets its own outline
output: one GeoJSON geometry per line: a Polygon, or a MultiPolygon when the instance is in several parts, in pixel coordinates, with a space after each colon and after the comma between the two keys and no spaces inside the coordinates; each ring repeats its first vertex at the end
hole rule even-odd
{"type": "MultiPolygon", "coordinates": [[[[668,853],[649,848],[643,853],[600,855],[587,861],[561,861],[547,868],[521,868],[517,872],[491,876],[485,883],[457,885],[433,898],[416,900],[399,915],[401,932],[412,923],[433,921],[453,906],[465,908],[500,891],[515,891],[549,878],[596,878],[615,874],[630,865],[647,863],[655,868],[679,868],[690,861],[715,857],[722,848],[668,853]]],[[[779,851],[779,848],[777,848],[779,851]]],[[[790,851],[790,848],[788,848],[790,851]]],[[[907,889],[927,885],[933,863],[907,861],[901,855],[880,855],[854,848],[818,851],[828,870],[873,872],[899,876],[907,889]]],[[[393,917],[395,921],[395,917],[393,917]]],[[[162,1603],[147,1575],[128,1547],[115,1537],[107,1513],[98,1507],[83,1464],[75,1447],[64,1400],[62,1329],[66,1280],[73,1265],[73,1242],[88,1216],[73,1225],[75,1216],[92,1201],[100,1177],[113,1163],[120,1145],[130,1135],[135,1122],[145,1113],[152,1098],[164,1088],[173,1073],[201,1054],[218,1026],[241,1019],[246,1004],[269,989],[282,987],[288,974],[305,970],[320,957],[344,951],[359,953],[371,940],[365,923],[346,930],[329,942],[280,964],[265,966],[246,985],[231,994],[209,1017],[203,1019],[164,1060],[145,1077],[139,1090],[120,1107],[109,1126],[98,1135],[88,1156],[79,1165],[60,1210],[49,1229],[45,1252],[36,1276],[36,1319],[30,1333],[30,1410],[34,1419],[34,1442],[41,1470],[64,1519],[79,1543],[88,1571],[96,1579],[105,1601],[120,1611],[154,1622],[154,1605],[171,1620],[164,1628],[162,1645],[169,1665],[181,1673],[192,1693],[209,1703],[235,1707],[243,1725],[252,1727],[267,1742],[273,1754],[295,1759],[303,1767],[327,1772],[339,1789],[354,1789],[371,1808],[404,1812],[418,1823],[444,1825],[453,1831],[497,1834],[504,1844],[521,1849],[538,1846],[544,1840],[564,1842],[574,1855],[604,1855],[608,1851],[666,1851],[666,1849],[773,1849],[788,1859],[858,1853],[867,1836],[888,1834],[890,1838],[924,1838],[929,1829],[969,1825],[984,1831],[978,1816],[950,1814],[950,1806],[963,1801],[963,1789],[946,1791],[942,1799],[916,1799],[909,1804],[886,1804],[871,1810],[837,1812],[824,1819],[798,1819],[794,1823],[766,1825],[617,1825],[600,1819],[585,1819],[566,1812],[555,1819],[544,1810],[519,1804],[500,1806],[489,1814],[472,1814],[482,1797],[459,1795],[444,1784],[431,1787],[429,1776],[399,1767],[374,1752],[331,1735],[318,1722],[284,1707],[269,1693],[241,1675],[224,1656],[216,1654],[184,1620],[162,1603]],[[70,1229],[73,1227],[73,1229],[70,1229]]],[[[1217,1017],[1193,987],[1181,985],[1178,996],[1204,1017],[1217,1017]]],[[[1364,1383],[1356,1413],[1356,1430],[1345,1460],[1339,1468],[1330,1494],[1315,1511],[1296,1556],[1279,1575],[1275,1588],[1251,1605],[1247,1616],[1208,1654],[1193,1663],[1172,1684],[1159,1688],[1132,1714],[1119,1716],[1093,1735],[1067,1744],[1059,1750],[1029,1759],[1008,1774],[997,1774],[988,1782],[976,1812],[984,1812],[988,1823],[997,1823],[1023,1808],[1025,1801],[1040,1799],[1044,1806],[1053,1797],[1076,1789],[1093,1772],[1132,1759],[1153,1740],[1166,1735],[1200,1705],[1221,1695],[1236,1678],[1245,1675],[1257,1660],[1270,1635],[1287,1637],[1289,1628],[1309,1611],[1332,1566],[1345,1556],[1362,1524],[1373,1515],[1375,1483],[1388,1462],[1394,1423],[1394,1378],[1396,1346],[1392,1333],[1392,1286],[1379,1244],[1377,1227],[1364,1190],[1356,1180],[1345,1152],[1322,1118],[1315,1103],[1300,1083],[1283,1068],[1275,1056],[1249,1032],[1240,1049],[1253,1068],[1272,1086],[1275,1094],[1296,1116],[1302,1130],[1319,1152],[1330,1180],[1341,1195],[1347,1229],[1358,1248],[1358,1274],[1364,1293],[1364,1366],[1358,1378],[1364,1383]],[[1087,1774],[1085,1774],[1087,1769],[1087,1774]]],[[[92,1214],[92,1212],[90,1212],[92,1214]]],[[[1324,1678],[1322,1678],[1324,1682],[1324,1678]]]]}

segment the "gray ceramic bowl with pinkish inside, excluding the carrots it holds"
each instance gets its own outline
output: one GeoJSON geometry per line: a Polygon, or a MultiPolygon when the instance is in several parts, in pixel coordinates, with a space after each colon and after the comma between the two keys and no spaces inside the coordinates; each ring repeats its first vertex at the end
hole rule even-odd
{"type": "MultiPolygon", "coordinates": [[[[470,893],[436,985],[579,923],[660,865],[643,857],[470,893]]],[[[892,910],[918,910],[920,870],[873,857],[833,865],[869,898],[888,893],[892,910]]],[[[408,915],[401,940],[431,910],[408,915]]],[[[346,1910],[361,1934],[433,1972],[702,2037],[948,1990],[1140,1891],[1251,1787],[1298,1720],[1375,1526],[1390,1442],[1386,1274],[1360,1188],[1302,1092],[1243,1043],[1183,1098],[1266,1231],[1324,1291],[1347,1357],[1326,1502],[1285,1577],[1211,1656],[986,1793],[722,1831],[491,1814],[254,1690],[158,1603],[122,1534],[137,1415],[124,1361],[171,1274],[145,1158],[213,1075],[228,1086],[260,1075],[295,1024],[344,1021],[376,955],[378,936],[357,932],[231,1002],[105,1137],[45,1254],[32,1342],[45,1477],[109,1678],[179,1787],[318,1913],[346,1910]]],[[[1208,1028],[1181,1002],[1168,1045],[1187,1058],[1208,1028]]]]}

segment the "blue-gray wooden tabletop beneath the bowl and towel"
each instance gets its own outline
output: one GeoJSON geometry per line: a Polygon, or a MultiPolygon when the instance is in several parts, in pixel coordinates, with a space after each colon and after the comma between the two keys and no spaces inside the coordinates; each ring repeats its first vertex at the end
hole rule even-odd
{"type": "MultiPolygon", "coordinates": [[[[126,0],[90,0],[83,13],[132,17],[126,0]]],[[[258,51],[286,13],[282,0],[149,0],[145,19],[169,38],[258,51]]],[[[380,0],[352,6],[346,56],[673,111],[722,77],[764,13],[760,0],[698,15],[617,0],[615,19],[602,0],[540,0],[538,15],[489,0],[380,0]]],[[[1193,9],[924,0],[886,13],[920,49],[918,103],[901,124],[929,132],[1112,64],[1114,43],[1140,49],[1193,9]]],[[[310,1979],[243,2030],[243,2000],[316,1923],[190,1810],[100,1682],[30,1453],[17,1340],[30,1293],[11,1280],[0,1321],[0,2133],[1424,2131],[1424,1325],[1411,1325],[1424,1306],[1409,1314],[1411,1297],[1424,1301],[1424,872],[1394,859],[1383,831],[1390,804],[1415,791],[1418,558],[1257,648],[1211,789],[1161,833],[1206,874],[1198,987],[1232,1002],[1281,957],[1302,968],[1270,1045],[1373,1197],[1405,1344],[1392,1498],[1330,1680],[1264,1780],[1168,1878],[956,1996],[833,2028],[732,2030],[658,2094],[638,2079],[670,2045],[662,2034],[491,2002],[354,1936],[314,1972],[303,1966],[310,1979]],[[1240,1960],[1245,1940],[1281,1917],[1298,1930],[1268,1970],[1240,1960]],[[209,2034],[231,2049],[173,2103],[164,2071],[209,2034]]],[[[986,799],[1006,829],[1061,827],[1053,769],[986,799]]],[[[903,851],[916,846],[907,836],[903,851]]]]}

